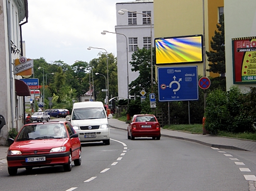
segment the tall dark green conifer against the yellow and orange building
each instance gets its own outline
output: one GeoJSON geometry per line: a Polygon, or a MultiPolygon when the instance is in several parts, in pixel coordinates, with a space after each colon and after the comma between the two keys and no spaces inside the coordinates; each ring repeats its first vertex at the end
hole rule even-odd
{"type": "Polygon", "coordinates": [[[216,24],[218,31],[215,31],[215,36],[212,37],[211,48],[213,51],[207,52],[210,68],[209,72],[219,73],[224,77],[226,72],[225,63],[225,32],[224,32],[224,14],[220,16],[219,24],[216,24]]]}

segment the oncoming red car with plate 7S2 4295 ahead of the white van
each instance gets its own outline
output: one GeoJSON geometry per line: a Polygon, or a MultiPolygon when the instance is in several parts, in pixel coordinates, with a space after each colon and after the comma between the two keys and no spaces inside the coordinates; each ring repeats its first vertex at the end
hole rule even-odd
{"type": "Polygon", "coordinates": [[[7,152],[9,175],[18,168],[81,165],[81,143],[69,122],[30,123],[22,127],[7,152]]]}

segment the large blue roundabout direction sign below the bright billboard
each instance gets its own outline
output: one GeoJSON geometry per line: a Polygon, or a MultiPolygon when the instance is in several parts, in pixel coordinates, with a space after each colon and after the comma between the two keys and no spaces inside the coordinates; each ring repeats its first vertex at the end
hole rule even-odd
{"type": "Polygon", "coordinates": [[[198,100],[197,66],[159,67],[157,72],[160,101],[198,100]]]}

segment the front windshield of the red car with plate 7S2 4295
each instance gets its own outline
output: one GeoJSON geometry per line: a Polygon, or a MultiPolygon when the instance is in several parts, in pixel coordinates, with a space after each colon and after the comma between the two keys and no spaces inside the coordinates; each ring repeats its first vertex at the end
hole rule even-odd
{"type": "Polygon", "coordinates": [[[31,139],[67,138],[67,133],[62,123],[31,124],[21,130],[16,141],[31,139]]]}

